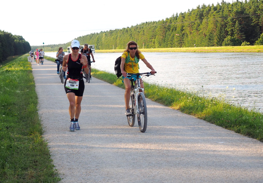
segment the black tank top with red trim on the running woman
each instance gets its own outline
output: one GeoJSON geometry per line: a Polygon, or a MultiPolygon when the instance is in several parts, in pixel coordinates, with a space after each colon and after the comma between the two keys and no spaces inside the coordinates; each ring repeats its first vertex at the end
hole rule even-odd
{"type": "Polygon", "coordinates": [[[81,58],[81,54],[78,54],[78,59],[77,60],[72,60],[71,58],[71,53],[68,56],[68,72],[67,75],[69,78],[71,79],[77,79],[77,78],[82,78],[83,75],[81,74],[81,70],[82,70],[82,63],[80,63],[80,58],[81,58]]]}

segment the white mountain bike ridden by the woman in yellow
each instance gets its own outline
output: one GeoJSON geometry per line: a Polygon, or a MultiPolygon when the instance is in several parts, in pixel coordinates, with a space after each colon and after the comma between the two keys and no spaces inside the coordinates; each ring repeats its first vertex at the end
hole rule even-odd
{"type": "Polygon", "coordinates": [[[144,96],[144,89],[141,88],[139,76],[151,76],[154,74],[151,74],[150,72],[137,74],[127,73],[127,77],[131,77],[131,75],[136,76],[136,83],[131,80],[131,97],[129,106],[132,114],[127,115],[127,121],[129,126],[134,126],[135,116],[137,115],[140,131],[145,132],[147,128],[147,106],[144,96]]]}

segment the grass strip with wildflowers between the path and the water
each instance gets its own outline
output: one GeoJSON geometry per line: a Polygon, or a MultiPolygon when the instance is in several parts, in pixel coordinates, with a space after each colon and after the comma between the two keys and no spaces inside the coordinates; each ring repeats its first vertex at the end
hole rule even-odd
{"type": "MultiPolygon", "coordinates": [[[[115,74],[93,68],[92,76],[124,89],[115,74]]],[[[185,92],[147,82],[144,85],[145,96],[153,101],[263,142],[263,115],[258,111],[236,106],[224,98],[206,96],[202,90],[185,92]]]]}

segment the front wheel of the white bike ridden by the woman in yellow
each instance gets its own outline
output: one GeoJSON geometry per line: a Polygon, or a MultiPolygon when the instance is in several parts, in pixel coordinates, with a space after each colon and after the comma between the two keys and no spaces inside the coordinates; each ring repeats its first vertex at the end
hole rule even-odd
{"type": "Polygon", "coordinates": [[[147,128],[147,107],[146,107],[146,100],[145,96],[142,93],[138,95],[138,125],[141,132],[145,132],[147,128]]]}

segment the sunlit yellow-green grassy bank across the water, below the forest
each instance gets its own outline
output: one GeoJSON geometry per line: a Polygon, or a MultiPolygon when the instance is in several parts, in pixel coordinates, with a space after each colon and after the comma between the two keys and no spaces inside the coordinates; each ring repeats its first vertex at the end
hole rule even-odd
{"type": "MultiPolygon", "coordinates": [[[[95,48],[96,49],[96,48],[95,48]]],[[[187,47],[187,48],[151,48],[142,49],[141,52],[236,52],[236,53],[263,53],[263,45],[260,46],[218,46],[218,47],[187,47]]],[[[121,53],[118,50],[96,50],[96,53],[121,53]]]]}

